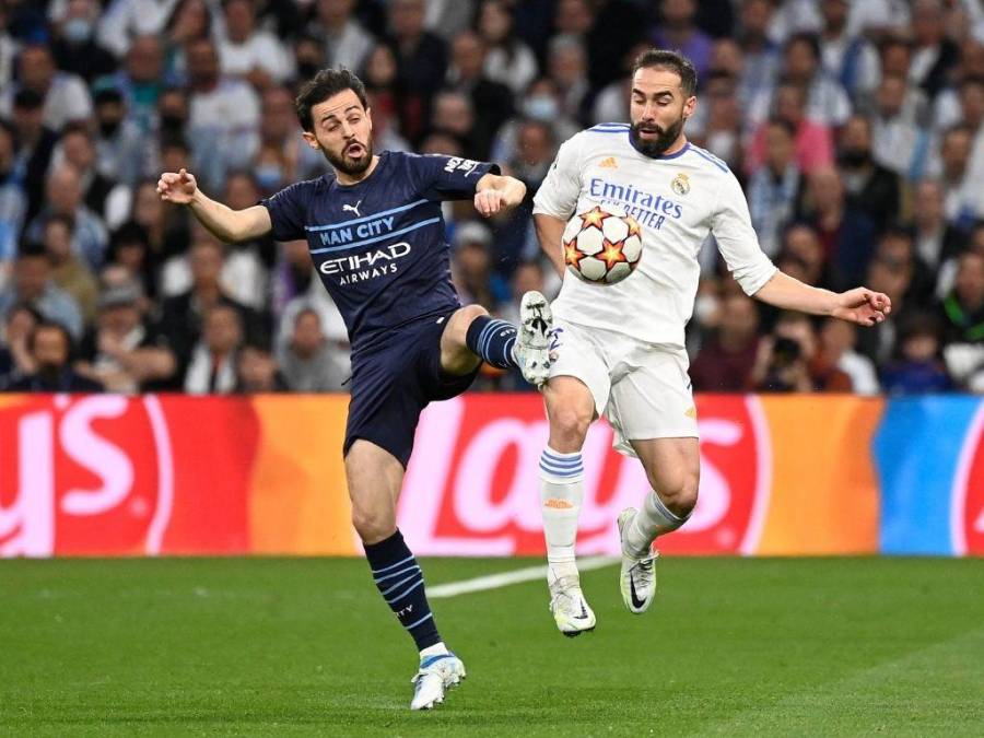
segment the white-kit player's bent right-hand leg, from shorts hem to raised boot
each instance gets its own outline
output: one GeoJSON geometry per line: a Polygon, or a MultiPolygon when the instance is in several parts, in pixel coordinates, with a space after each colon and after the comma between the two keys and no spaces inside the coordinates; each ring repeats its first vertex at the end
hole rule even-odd
{"type": "Polygon", "coordinates": [[[630,612],[645,612],[656,596],[653,541],[687,523],[696,505],[701,453],[696,438],[631,441],[653,491],[639,509],[619,515],[622,570],[619,586],[630,612]]]}

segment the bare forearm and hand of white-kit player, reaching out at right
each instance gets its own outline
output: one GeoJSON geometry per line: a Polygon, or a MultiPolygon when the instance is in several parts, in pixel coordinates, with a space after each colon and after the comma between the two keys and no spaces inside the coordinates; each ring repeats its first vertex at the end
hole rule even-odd
{"type": "Polygon", "coordinates": [[[867,288],[855,288],[841,293],[820,290],[781,271],[775,272],[754,296],[783,309],[831,315],[860,326],[881,323],[892,312],[892,301],[881,292],[867,288]]]}

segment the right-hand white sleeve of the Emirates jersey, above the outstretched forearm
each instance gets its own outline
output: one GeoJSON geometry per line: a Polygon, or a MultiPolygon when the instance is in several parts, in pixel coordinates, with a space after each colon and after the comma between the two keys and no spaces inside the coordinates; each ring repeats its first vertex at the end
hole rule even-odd
{"type": "Polygon", "coordinates": [[[725,175],[717,196],[711,233],[728,271],[747,295],[753,295],[772,279],[776,268],[759,246],[745,192],[730,172],[725,175]]]}

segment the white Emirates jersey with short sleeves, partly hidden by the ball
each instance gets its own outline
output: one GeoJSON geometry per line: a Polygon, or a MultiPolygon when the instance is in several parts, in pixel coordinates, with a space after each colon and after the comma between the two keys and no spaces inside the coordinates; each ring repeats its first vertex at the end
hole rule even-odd
{"type": "Polygon", "coordinates": [[[628,124],[601,124],[571,138],[537,192],[534,213],[567,221],[606,204],[639,221],[642,258],[618,284],[565,278],[553,303],[554,315],[564,320],[683,347],[700,279],[698,254],[708,233],[747,294],[776,271],[759,247],[735,175],[692,143],[654,159],[635,150],[628,124]]]}

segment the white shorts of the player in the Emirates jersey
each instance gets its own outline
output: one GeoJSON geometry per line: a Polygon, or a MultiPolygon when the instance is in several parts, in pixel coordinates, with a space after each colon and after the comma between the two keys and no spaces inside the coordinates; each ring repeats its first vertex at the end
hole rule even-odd
{"type": "Polygon", "coordinates": [[[557,358],[550,376],[581,379],[595,411],[614,429],[614,448],[635,456],[630,441],[696,438],[687,351],[623,333],[554,320],[557,358]]]}

